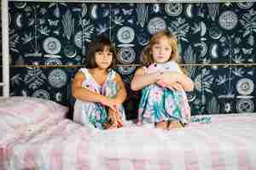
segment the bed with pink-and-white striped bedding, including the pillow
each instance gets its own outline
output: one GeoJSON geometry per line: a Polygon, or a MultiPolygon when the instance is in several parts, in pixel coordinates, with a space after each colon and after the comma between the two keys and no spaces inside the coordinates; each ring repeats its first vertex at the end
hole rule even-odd
{"type": "MultiPolygon", "coordinates": [[[[172,131],[126,122],[89,130],[67,108],[29,97],[0,100],[0,169],[256,169],[256,116],[212,115],[172,131]]],[[[201,116],[194,116],[200,119],[201,116]]]]}

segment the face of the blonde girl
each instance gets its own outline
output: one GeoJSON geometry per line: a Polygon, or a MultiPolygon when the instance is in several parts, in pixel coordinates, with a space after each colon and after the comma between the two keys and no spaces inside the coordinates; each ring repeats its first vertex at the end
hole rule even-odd
{"type": "Polygon", "coordinates": [[[170,60],[172,46],[168,37],[160,37],[159,41],[152,46],[152,55],[155,63],[166,63],[170,60]]]}

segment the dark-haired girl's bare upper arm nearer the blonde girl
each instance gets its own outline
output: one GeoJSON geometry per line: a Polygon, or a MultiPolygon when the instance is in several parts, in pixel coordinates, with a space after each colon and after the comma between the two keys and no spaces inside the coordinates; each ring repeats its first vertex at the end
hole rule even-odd
{"type": "Polygon", "coordinates": [[[126,96],[127,96],[127,93],[125,90],[125,85],[124,85],[124,82],[122,81],[121,77],[119,76],[119,74],[116,74],[114,81],[118,82],[118,84],[119,84],[119,92],[115,96],[114,100],[117,104],[121,105],[125,101],[126,96]]]}

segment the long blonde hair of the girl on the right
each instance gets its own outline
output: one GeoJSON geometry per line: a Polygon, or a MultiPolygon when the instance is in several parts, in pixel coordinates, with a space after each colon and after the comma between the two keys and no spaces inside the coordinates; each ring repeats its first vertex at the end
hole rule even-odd
{"type": "Polygon", "coordinates": [[[143,49],[143,54],[142,54],[142,62],[143,65],[151,65],[154,63],[153,55],[152,55],[152,48],[154,44],[158,43],[160,41],[161,37],[167,37],[169,39],[170,45],[172,47],[172,54],[170,57],[170,60],[175,59],[177,63],[180,63],[180,57],[177,54],[177,37],[172,34],[171,31],[159,31],[156,34],[154,34],[153,37],[150,39],[149,45],[143,49]]]}

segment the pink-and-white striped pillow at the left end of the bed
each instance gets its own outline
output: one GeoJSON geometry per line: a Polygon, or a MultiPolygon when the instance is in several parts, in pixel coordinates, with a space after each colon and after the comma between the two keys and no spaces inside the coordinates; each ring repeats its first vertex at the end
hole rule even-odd
{"type": "MultiPolygon", "coordinates": [[[[49,119],[62,119],[68,108],[54,101],[13,96],[0,99],[0,127],[23,129],[49,119]]],[[[4,133],[0,133],[0,139],[4,133]]]]}

